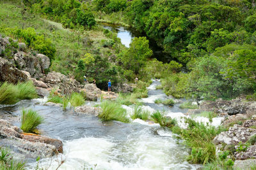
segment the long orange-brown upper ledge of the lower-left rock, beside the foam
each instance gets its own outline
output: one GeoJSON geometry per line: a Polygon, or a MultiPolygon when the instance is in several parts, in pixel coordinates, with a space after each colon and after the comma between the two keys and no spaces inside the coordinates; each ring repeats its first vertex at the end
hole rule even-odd
{"type": "Polygon", "coordinates": [[[35,136],[35,135],[25,135],[25,134],[22,134],[21,138],[27,141],[31,141],[33,143],[46,143],[49,145],[53,145],[56,147],[56,150],[59,153],[63,153],[63,143],[58,139],[51,139],[46,136],[35,136]]]}

